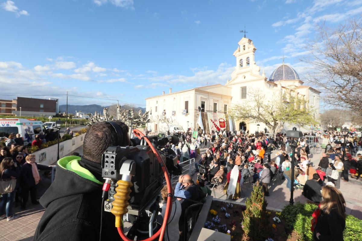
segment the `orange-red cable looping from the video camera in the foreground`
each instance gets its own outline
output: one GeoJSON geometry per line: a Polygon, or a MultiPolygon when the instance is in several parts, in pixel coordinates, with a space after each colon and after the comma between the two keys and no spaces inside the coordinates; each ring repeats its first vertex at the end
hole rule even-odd
{"type": "MultiPolygon", "coordinates": [[[[151,150],[153,151],[153,153],[156,155],[156,158],[158,160],[158,162],[161,164],[161,168],[162,168],[162,171],[164,172],[164,175],[165,175],[165,178],[166,178],[166,184],[167,184],[167,191],[168,193],[172,193],[172,184],[171,184],[171,179],[170,179],[170,176],[168,174],[168,171],[167,171],[167,168],[165,163],[163,162],[160,154],[157,152],[157,150],[155,149],[155,147],[152,146],[152,143],[151,141],[146,137],[146,135],[144,135],[140,130],[137,130],[137,129],[134,129],[133,130],[133,133],[136,135],[136,137],[138,137],[139,139],[141,139],[142,137],[146,140],[147,144],[150,146],[151,150]]],[[[171,210],[172,210],[172,197],[167,197],[167,205],[166,205],[166,210],[165,210],[165,216],[164,216],[164,219],[163,219],[163,223],[162,223],[162,226],[161,228],[155,233],[153,234],[151,237],[149,238],[146,238],[142,241],[152,241],[152,240],[156,240],[157,237],[159,237],[159,241],[162,241],[163,240],[163,236],[165,234],[165,229],[166,229],[166,226],[167,226],[167,221],[168,221],[168,218],[169,218],[169,214],[171,213],[171,210]]],[[[125,241],[133,241],[129,238],[127,238],[125,236],[125,234],[123,233],[123,230],[121,227],[117,227],[117,230],[118,230],[118,233],[119,235],[121,236],[122,240],[125,240],[125,241]]]]}

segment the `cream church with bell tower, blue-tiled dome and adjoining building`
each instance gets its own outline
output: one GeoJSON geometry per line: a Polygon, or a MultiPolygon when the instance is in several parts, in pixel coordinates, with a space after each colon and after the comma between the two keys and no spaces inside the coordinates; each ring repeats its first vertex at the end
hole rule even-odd
{"type": "MultiPolygon", "coordinates": [[[[168,94],[163,92],[162,95],[146,98],[146,110],[150,111],[153,120],[148,128],[153,131],[167,130],[169,124],[157,121],[157,117],[164,115],[171,117],[172,124],[181,125],[184,130],[197,129],[198,107],[201,107],[202,123],[207,133],[219,129],[242,129],[249,130],[250,133],[264,130],[267,127],[263,123],[234,120],[228,116],[233,104],[252,102],[250,93],[254,91],[261,91],[266,96],[266,101],[268,96],[283,101],[283,96],[290,94],[303,98],[307,101],[308,108],[314,110],[314,119],[319,119],[320,91],[303,85],[298,73],[284,62],[269,78],[264,72],[260,74],[260,67],[255,62],[257,49],[252,40],[244,37],[238,44],[233,53],[236,59],[235,70],[231,74],[231,80],[228,79],[225,85],[203,86],[173,93],[170,89],[168,94]]],[[[291,126],[285,124],[282,131],[288,129],[291,129],[291,126]]],[[[308,129],[309,127],[301,128],[305,132],[308,129]]],[[[271,130],[267,128],[267,131],[271,130]]]]}

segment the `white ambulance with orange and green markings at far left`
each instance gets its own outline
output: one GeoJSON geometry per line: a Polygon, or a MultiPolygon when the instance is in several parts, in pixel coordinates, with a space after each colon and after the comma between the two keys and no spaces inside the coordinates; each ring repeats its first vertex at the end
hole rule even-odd
{"type": "Polygon", "coordinates": [[[24,145],[34,140],[36,134],[45,132],[43,122],[37,120],[0,118],[0,139],[7,139],[9,134],[20,134],[24,139],[24,145]]]}

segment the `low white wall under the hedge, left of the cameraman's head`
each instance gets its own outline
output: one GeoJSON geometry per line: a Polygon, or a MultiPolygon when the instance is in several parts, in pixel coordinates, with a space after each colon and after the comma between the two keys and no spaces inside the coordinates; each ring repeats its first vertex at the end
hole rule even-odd
{"type": "MultiPolygon", "coordinates": [[[[59,158],[62,158],[64,156],[68,155],[69,153],[71,153],[72,151],[77,149],[78,147],[82,146],[83,141],[84,141],[84,136],[85,136],[85,134],[81,134],[76,137],[73,137],[70,140],[60,142],[59,143],[59,158]],[[74,145],[73,145],[73,141],[74,141],[74,145]],[[62,151],[60,151],[62,149],[62,145],[64,146],[64,149],[62,151]]],[[[52,165],[58,161],[57,160],[58,143],[55,145],[52,145],[50,147],[41,149],[39,151],[35,151],[32,154],[35,155],[37,163],[41,163],[44,165],[52,165]]]]}

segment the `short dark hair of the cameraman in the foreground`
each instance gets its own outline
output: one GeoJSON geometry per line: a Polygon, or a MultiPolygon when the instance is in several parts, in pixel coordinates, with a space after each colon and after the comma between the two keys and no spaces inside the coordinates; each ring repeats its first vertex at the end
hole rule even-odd
{"type": "Polygon", "coordinates": [[[83,157],[92,162],[101,163],[103,152],[109,146],[128,146],[130,138],[128,136],[128,126],[122,121],[113,121],[118,124],[122,130],[123,143],[117,143],[118,137],[113,126],[106,122],[100,121],[94,123],[87,130],[83,143],[83,157]]]}

